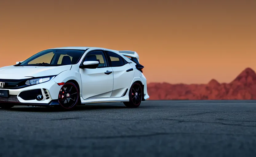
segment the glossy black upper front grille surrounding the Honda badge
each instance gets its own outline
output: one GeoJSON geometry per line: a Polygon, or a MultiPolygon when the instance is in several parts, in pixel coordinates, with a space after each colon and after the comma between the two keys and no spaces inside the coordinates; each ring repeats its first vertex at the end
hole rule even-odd
{"type": "Polygon", "coordinates": [[[23,88],[28,85],[26,85],[27,79],[20,79],[20,80],[14,80],[14,79],[0,79],[0,82],[4,83],[4,87],[1,89],[18,89],[23,88]]]}

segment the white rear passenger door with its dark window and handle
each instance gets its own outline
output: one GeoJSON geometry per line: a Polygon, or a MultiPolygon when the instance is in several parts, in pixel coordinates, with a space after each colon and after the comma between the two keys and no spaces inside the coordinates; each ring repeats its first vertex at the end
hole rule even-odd
{"type": "Polygon", "coordinates": [[[113,74],[114,85],[111,97],[122,97],[127,89],[130,88],[134,78],[134,69],[131,65],[117,53],[105,51],[113,74]]]}

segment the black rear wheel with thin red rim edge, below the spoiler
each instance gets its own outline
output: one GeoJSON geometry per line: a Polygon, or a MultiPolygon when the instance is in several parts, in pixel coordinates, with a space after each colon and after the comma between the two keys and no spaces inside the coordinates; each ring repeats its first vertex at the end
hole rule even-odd
{"type": "Polygon", "coordinates": [[[132,84],[129,91],[129,101],[123,102],[128,108],[137,108],[142,101],[142,87],[139,83],[132,84]]]}

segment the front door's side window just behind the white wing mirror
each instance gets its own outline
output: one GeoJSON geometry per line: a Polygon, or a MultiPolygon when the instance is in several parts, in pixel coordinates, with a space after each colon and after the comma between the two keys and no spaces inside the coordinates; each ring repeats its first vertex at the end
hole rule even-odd
{"type": "Polygon", "coordinates": [[[98,61],[99,62],[98,67],[106,67],[106,59],[102,51],[89,52],[86,55],[84,61],[98,61]]]}

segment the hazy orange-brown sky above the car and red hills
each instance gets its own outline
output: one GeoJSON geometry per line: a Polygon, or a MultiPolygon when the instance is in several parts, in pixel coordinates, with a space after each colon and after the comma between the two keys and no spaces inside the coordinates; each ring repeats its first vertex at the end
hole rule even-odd
{"type": "Polygon", "coordinates": [[[0,66],[95,46],[138,52],[148,82],[230,82],[256,70],[255,8],[255,0],[0,0],[0,66]]]}

